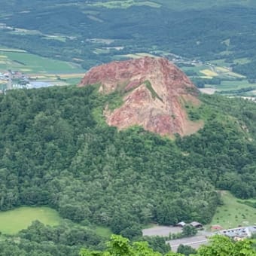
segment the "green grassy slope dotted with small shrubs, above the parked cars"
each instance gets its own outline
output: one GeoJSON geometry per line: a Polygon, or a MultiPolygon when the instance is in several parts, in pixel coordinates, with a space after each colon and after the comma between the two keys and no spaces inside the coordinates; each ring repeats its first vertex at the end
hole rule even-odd
{"type": "Polygon", "coordinates": [[[224,205],[218,207],[209,227],[215,224],[224,228],[256,224],[256,209],[239,203],[242,200],[233,197],[228,191],[222,191],[221,195],[224,205]]]}

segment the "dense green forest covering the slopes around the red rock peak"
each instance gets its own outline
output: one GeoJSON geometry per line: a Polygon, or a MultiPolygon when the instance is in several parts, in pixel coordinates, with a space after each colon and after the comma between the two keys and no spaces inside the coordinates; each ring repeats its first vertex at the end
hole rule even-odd
{"type": "MultiPolygon", "coordinates": [[[[47,205],[63,218],[133,238],[151,222],[208,223],[221,204],[216,190],[255,197],[254,102],[201,96],[199,108],[186,108],[190,118],[204,120],[204,128],[173,141],[140,127],[118,132],[107,126],[102,109],[116,100],[92,86],[1,95],[1,210],[47,205]]],[[[33,236],[19,237],[69,245],[57,238],[60,230],[32,230],[33,236]],[[40,238],[38,232],[56,234],[40,238]]],[[[71,245],[101,241],[88,239],[80,236],[71,245]]]]}

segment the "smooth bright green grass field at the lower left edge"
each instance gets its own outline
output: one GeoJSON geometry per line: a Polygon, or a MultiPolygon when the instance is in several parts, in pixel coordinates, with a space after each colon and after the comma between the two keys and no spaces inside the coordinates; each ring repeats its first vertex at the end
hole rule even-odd
{"type": "Polygon", "coordinates": [[[29,227],[32,221],[41,221],[50,226],[56,226],[62,218],[48,207],[20,207],[7,212],[0,212],[0,231],[5,234],[17,233],[29,227]]]}

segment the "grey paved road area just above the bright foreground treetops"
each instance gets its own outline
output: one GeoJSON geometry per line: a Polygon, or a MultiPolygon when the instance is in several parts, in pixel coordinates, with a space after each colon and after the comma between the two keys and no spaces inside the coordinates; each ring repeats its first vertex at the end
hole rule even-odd
{"type": "Polygon", "coordinates": [[[206,238],[206,236],[202,235],[166,241],[166,243],[169,243],[169,245],[171,246],[172,251],[177,251],[178,245],[181,244],[190,245],[192,248],[197,249],[200,247],[200,245],[206,245],[207,242],[208,239],[206,238]]]}

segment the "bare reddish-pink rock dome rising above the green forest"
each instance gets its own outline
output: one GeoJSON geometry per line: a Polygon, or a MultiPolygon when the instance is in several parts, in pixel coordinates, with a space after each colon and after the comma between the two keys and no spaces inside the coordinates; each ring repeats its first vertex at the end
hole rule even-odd
{"type": "Polygon", "coordinates": [[[89,84],[100,84],[102,93],[123,92],[120,108],[105,109],[107,123],[119,129],[140,125],[160,135],[184,136],[202,126],[188,120],[184,109],[186,102],[199,103],[197,88],[167,59],[145,57],[96,66],[79,86],[89,84]]]}

